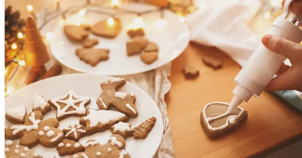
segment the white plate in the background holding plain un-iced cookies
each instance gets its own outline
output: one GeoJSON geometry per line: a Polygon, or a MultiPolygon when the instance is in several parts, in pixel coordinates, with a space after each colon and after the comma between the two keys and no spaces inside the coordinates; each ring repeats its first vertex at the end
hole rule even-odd
{"type": "MultiPolygon", "coordinates": [[[[144,11],[152,9],[153,6],[143,4],[129,4],[124,6],[127,9],[144,11]]],[[[99,8],[98,8],[99,9],[99,8]]],[[[89,8],[89,10],[96,10],[89,8]]],[[[75,50],[81,48],[81,43],[71,42],[63,32],[63,26],[66,23],[89,23],[94,24],[100,20],[107,19],[108,16],[104,14],[97,14],[87,12],[85,17],[79,17],[78,14],[68,16],[66,21],[60,21],[56,26],[53,34],[53,39],[50,42],[50,50],[53,55],[65,66],[86,73],[98,73],[103,75],[128,75],[134,73],[145,72],[155,69],[164,64],[169,63],[178,55],[180,55],[188,45],[189,32],[188,26],[181,23],[178,17],[171,11],[165,11],[164,17],[166,25],[159,29],[156,25],[160,18],[159,12],[143,15],[146,37],[149,41],[156,42],[159,46],[159,58],[153,64],[147,65],[140,60],[139,54],[128,57],[126,54],[126,42],[129,40],[127,30],[133,27],[133,14],[119,14],[123,25],[123,29],[115,39],[105,39],[91,34],[90,38],[98,38],[99,44],[94,48],[108,48],[110,49],[109,59],[101,61],[95,67],[86,64],[79,57],[76,56],[75,50]]]]}

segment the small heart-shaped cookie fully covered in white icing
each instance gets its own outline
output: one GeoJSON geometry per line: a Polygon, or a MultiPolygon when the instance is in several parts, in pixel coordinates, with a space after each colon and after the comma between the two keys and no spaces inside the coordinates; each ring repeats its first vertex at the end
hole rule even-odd
{"type": "Polygon", "coordinates": [[[24,105],[10,108],[6,111],[5,118],[12,123],[24,123],[26,108],[24,105]]]}

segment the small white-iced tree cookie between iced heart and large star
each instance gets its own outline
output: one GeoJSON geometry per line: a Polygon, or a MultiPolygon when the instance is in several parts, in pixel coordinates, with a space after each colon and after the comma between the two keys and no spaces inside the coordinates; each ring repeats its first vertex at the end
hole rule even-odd
{"type": "Polygon", "coordinates": [[[50,110],[51,106],[49,103],[47,103],[46,99],[41,95],[36,94],[32,111],[40,111],[43,115],[45,115],[50,110]]]}

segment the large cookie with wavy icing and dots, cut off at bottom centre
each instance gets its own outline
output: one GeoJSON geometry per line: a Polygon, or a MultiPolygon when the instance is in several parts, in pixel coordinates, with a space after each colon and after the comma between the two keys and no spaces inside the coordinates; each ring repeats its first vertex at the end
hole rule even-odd
{"type": "Polygon", "coordinates": [[[120,135],[111,135],[108,142],[101,145],[95,139],[88,140],[85,144],[85,152],[76,153],[70,158],[130,158],[129,153],[124,150],[126,147],[125,139],[120,135]]]}

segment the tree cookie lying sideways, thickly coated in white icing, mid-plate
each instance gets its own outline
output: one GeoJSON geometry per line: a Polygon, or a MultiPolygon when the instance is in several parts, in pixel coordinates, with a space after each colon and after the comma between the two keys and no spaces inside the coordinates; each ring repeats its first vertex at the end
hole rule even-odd
{"type": "Polygon", "coordinates": [[[86,134],[92,135],[110,129],[120,121],[127,122],[128,116],[118,111],[87,109],[87,116],[80,118],[80,125],[85,125],[86,134]]]}

